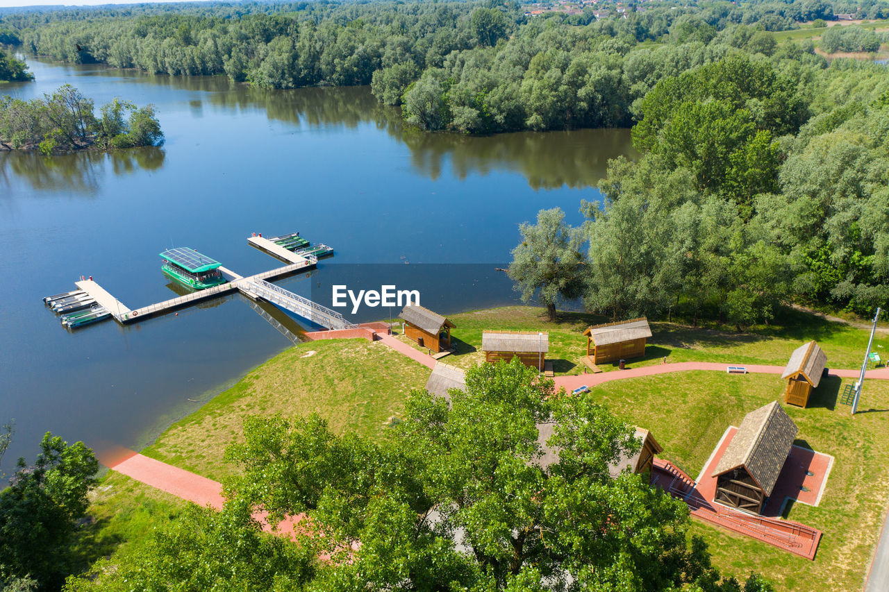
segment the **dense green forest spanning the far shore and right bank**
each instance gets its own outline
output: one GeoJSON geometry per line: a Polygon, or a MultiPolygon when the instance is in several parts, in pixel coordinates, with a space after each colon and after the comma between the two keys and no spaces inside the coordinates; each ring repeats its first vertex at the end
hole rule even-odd
{"type": "MultiPolygon", "coordinates": [[[[614,162],[605,202],[583,207],[588,308],[744,327],[791,300],[889,302],[885,66],[772,34],[837,12],[889,4],[650,2],[599,20],[495,2],[143,5],[7,13],[0,35],[174,76],[370,84],[427,131],[635,126],[643,157],[614,162]]],[[[885,37],[836,26],[821,47],[885,37]]]]}

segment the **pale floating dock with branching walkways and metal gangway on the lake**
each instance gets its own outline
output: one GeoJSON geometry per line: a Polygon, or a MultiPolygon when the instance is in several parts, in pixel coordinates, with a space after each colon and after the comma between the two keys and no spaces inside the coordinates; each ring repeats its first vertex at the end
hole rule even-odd
{"type": "MultiPolygon", "coordinates": [[[[298,235],[293,233],[292,236],[298,235]]],[[[308,241],[302,240],[308,244],[308,241]]],[[[92,276],[89,279],[77,281],[75,283],[76,291],[47,296],[44,298],[44,302],[60,315],[71,311],[70,314],[62,316],[62,324],[68,327],[76,327],[99,321],[108,316],[114,317],[120,324],[138,323],[150,316],[163,315],[177,308],[188,307],[203,300],[210,300],[231,292],[241,292],[251,300],[268,301],[327,329],[348,329],[355,326],[349,323],[340,313],[303,298],[299,294],[269,283],[271,280],[292,276],[307,268],[313,268],[317,263],[317,257],[314,254],[299,254],[289,251],[283,246],[276,244],[274,239],[263,238],[262,236],[250,236],[247,238],[247,241],[252,246],[260,249],[260,251],[267,252],[288,264],[281,268],[269,269],[268,271],[246,277],[237,274],[231,269],[219,266],[220,273],[227,280],[225,284],[215,285],[184,296],[164,300],[163,302],[149,304],[142,308],[131,309],[127,307],[96,283],[92,276]]],[[[292,338],[288,337],[288,339],[292,338]]]]}

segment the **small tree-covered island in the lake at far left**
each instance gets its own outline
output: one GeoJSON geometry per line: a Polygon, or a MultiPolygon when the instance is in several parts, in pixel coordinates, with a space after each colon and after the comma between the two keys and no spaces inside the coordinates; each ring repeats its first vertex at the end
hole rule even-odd
{"type": "Polygon", "coordinates": [[[44,99],[0,97],[0,150],[39,150],[51,155],[164,143],[153,105],[137,107],[115,98],[96,116],[93,100],[71,84],[44,99]]]}

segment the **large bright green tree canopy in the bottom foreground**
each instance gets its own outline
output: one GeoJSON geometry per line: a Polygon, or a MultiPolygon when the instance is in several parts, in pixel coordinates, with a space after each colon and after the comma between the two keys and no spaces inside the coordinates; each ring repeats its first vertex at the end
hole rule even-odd
{"type": "Polygon", "coordinates": [[[228,450],[243,473],[222,512],[188,512],[71,589],[739,589],[689,539],[685,503],[610,475],[640,445],[604,407],[517,360],[470,370],[449,400],[414,391],[380,442],[335,436],[314,415],[254,418],[228,450]],[[541,422],[555,425],[548,467],[541,422]],[[261,538],[256,506],[273,522],[304,513],[297,545],[261,538]]]}

